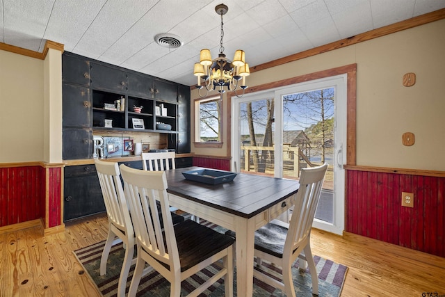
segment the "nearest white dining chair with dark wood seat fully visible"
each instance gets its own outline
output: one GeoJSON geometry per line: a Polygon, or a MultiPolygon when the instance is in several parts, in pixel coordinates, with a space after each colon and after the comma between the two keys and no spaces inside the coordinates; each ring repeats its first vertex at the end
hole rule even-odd
{"type": "Polygon", "coordinates": [[[188,296],[199,295],[220,278],[224,278],[225,296],[233,296],[234,239],[193,220],[173,225],[164,171],[137,170],[123,164],[120,171],[138,246],[129,296],[136,296],[145,263],[170,282],[170,296],[180,296],[181,281],[213,263],[218,264],[220,259],[223,260],[220,271],[188,296]],[[156,201],[161,204],[161,214],[154,211],[156,201]]]}

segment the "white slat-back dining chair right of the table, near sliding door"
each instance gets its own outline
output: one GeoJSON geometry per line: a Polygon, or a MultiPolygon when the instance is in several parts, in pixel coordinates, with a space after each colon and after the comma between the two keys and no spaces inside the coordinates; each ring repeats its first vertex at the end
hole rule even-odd
{"type": "MultiPolygon", "coordinates": [[[[272,220],[255,231],[254,257],[257,258],[257,264],[261,265],[261,261],[266,260],[280,266],[282,282],[271,278],[260,269],[254,269],[254,277],[281,289],[286,296],[296,296],[293,287],[292,266],[297,258],[305,260],[309,264],[312,294],[318,295],[318,277],[312,256],[310,237],[326,170],[327,163],[301,170],[300,188],[298,188],[289,224],[281,220],[272,220]]],[[[300,269],[302,269],[301,265],[300,269]]]]}

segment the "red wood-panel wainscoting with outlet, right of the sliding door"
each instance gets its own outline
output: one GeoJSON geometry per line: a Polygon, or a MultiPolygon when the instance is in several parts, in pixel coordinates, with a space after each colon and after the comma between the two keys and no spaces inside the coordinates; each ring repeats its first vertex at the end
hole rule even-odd
{"type": "Polygon", "coordinates": [[[345,231],[445,257],[444,196],[445,177],[346,170],[345,231]]]}

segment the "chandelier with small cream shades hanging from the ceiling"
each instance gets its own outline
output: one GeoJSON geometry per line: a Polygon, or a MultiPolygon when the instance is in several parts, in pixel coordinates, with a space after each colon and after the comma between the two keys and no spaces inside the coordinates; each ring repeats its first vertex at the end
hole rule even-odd
{"type": "Polygon", "coordinates": [[[227,90],[234,90],[236,97],[243,97],[244,90],[248,88],[245,85],[245,77],[250,74],[249,65],[245,63],[245,53],[243,50],[238,49],[235,51],[233,61],[229,61],[225,57],[223,47],[223,15],[227,13],[229,8],[225,4],[220,4],[215,7],[216,13],[221,15],[221,41],[220,41],[220,54],[218,58],[212,60],[209,49],[201,49],[200,63],[195,63],[193,74],[197,77],[197,86],[200,97],[206,97],[207,94],[213,90],[217,90],[218,93],[225,93],[227,90]],[[240,81],[242,80],[241,86],[240,81]],[[203,86],[201,85],[201,81],[203,86]],[[202,88],[206,89],[206,93],[201,95],[202,88]],[[242,90],[242,94],[238,94],[238,90],[242,90]]]}

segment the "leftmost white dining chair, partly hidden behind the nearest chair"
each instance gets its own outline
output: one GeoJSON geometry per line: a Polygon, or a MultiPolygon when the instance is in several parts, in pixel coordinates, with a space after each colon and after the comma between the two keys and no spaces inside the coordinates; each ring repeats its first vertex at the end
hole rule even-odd
{"type": "Polygon", "coordinates": [[[123,242],[125,255],[119,276],[118,296],[125,296],[130,266],[136,263],[136,258],[133,259],[134,245],[136,243],[133,224],[131,223],[127,201],[124,197],[118,163],[95,159],[95,166],[108,216],[108,236],[100,259],[100,275],[106,274],[106,262],[111,247],[123,242]]]}

